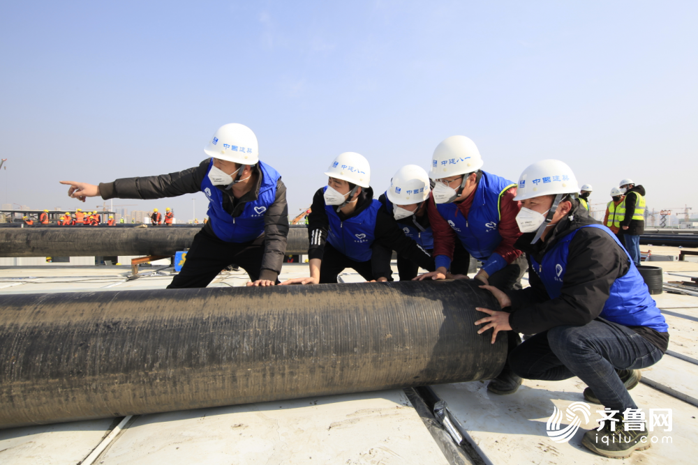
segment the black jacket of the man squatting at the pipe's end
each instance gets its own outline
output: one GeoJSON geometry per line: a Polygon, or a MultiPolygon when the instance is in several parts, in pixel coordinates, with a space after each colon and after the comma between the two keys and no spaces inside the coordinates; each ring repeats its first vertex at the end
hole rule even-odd
{"type": "MultiPolygon", "coordinates": [[[[508,291],[512,300],[510,326],[514,331],[536,334],[556,326],[582,326],[601,314],[609,298],[611,285],[630,270],[630,260],[623,248],[606,232],[584,228],[570,241],[567,270],[563,277],[562,294],[550,298],[535,273],[530,257],[541,263],[544,254],[563,236],[586,224],[599,224],[586,209],[574,202],[572,215],[561,220],[549,233],[546,241],[531,244],[535,233],[523,234],[516,247],[528,259],[530,287],[508,291]]],[[[646,337],[662,351],[667,350],[669,333],[659,333],[644,326],[631,328],[646,337]]]]}

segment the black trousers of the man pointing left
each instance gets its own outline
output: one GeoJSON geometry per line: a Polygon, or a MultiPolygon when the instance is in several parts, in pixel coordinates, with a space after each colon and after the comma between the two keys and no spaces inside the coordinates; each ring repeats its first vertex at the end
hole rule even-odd
{"type": "Polygon", "coordinates": [[[256,281],[260,276],[263,255],[263,234],[252,242],[232,243],[221,241],[202,229],[194,236],[184,266],[168,289],[207,287],[223,268],[232,264],[243,268],[250,280],[256,281]]]}

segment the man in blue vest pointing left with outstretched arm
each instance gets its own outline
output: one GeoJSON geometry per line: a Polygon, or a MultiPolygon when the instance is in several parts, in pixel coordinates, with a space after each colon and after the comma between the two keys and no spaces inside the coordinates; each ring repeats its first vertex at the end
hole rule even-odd
{"type": "MultiPolygon", "coordinates": [[[[203,192],[208,218],[194,236],[184,267],[168,288],[207,287],[231,264],[246,270],[248,286],[278,282],[288,236],[286,188],[281,174],[259,160],[257,137],[250,128],[230,123],[218,128],[204,149],[209,158],[198,167],[161,176],[70,185],[68,195],[84,201],[161,199],[203,192]]],[[[131,220],[133,222],[133,220],[131,220]]]]}

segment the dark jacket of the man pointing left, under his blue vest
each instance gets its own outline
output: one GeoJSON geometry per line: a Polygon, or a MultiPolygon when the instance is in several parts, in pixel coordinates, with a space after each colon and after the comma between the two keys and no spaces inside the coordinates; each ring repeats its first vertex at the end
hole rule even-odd
{"type": "MultiPolygon", "coordinates": [[[[185,169],[160,176],[144,176],[142,178],[121,178],[112,183],[100,183],[99,192],[102,198],[107,199],[162,199],[163,197],[177,197],[184,194],[200,192],[201,182],[206,176],[210,158],[203,160],[198,167],[185,169]]],[[[259,195],[262,183],[262,172],[255,166],[257,173],[257,185],[250,192],[239,199],[235,199],[232,190],[226,190],[224,186],[216,188],[223,192],[223,208],[230,216],[237,218],[242,215],[245,204],[254,201],[259,195]]],[[[211,236],[216,236],[211,227],[211,218],[204,225],[204,231],[211,236]]],[[[276,281],[281,273],[283,254],[286,251],[286,236],[288,236],[288,206],[286,205],[286,186],[279,178],[276,182],[276,198],[274,204],[267,208],[264,216],[265,222],[265,252],[262,258],[260,280],[276,281]]]]}

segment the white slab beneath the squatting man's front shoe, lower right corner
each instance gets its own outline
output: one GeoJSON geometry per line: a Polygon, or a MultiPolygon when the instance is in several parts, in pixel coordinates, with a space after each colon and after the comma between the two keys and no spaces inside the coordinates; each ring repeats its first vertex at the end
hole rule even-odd
{"type": "MultiPolygon", "coordinates": [[[[671,409],[673,431],[655,429],[671,443],[655,443],[630,459],[606,459],[581,445],[586,430],[597,426],[600,406],[590,404],[591,418],[584,422],[567,443],[556,443],[546,433],[546,422],[557,406],[563,413],[572,402],[584,402],[586,386],[578,378],[565,381],[523,381],[512,395],[499,396],[487,391],[487,383],[454,383],[433,386],[444,399],[471,442],[489,464],[695,464],[698,455],[698,408],[658,390],[640,384],[632,390],[639,408],[671,409]]],[[[568,425],[564,420],[560,427],[568,425]]]]}

